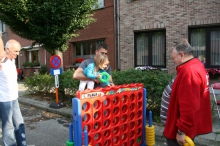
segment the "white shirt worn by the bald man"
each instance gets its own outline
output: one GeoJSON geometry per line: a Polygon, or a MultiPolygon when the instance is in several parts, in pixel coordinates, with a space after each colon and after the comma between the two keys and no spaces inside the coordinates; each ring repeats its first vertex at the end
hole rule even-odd
{"type": "Polygon", "coordinates": [[[0,70],[0,102],[15,100],[18,98],[17,70],[15,66],[15,60],[8,59],[6,62],[1,64],[2,70],[0,70]]]}

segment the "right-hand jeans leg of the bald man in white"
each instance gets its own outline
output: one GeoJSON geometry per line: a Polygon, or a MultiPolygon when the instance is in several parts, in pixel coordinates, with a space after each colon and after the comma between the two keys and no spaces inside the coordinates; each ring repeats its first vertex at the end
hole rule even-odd
{"type": "Polygon", "coordinates": [[[12,102],[13,104],[13,123],[15,127],[15,138],[18,146],[26,146],[26,135],[24,120],[21,115],[18,99],[12,102]]]}

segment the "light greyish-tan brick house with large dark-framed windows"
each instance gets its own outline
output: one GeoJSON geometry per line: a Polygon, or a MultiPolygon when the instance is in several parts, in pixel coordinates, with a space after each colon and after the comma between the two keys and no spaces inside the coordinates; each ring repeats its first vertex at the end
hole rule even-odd
{"type": "Polygon", "coordinates": [[[220,67],[219,0],[120,1],[120,65],[175,72],[171,47],[187,38],[207,68],[220,67]]]}

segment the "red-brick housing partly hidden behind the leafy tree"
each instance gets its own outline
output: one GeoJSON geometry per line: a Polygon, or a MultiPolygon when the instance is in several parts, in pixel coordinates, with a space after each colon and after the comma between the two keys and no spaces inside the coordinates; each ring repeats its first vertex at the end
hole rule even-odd
{"type": "MultiPolygon", "coordinates": [[[[99,0],[99,8],[94,12],[96,22],[90,24],[86,29],[79,31],[79,37],[72,38],[69,41],[69,48],[63,52],[62,66],[64,70],[77,68],[75,60],[77,58],[91,58],[95,55],[95,48],[100,42],[105,42],[109,46],[108,56],[112,69],[115,69],[115,5],[116,0],[99,0]]],[[[42,65],[46,65],[48,71],[51,68],[51,55],[46,52],[42,46],[36,45],[33,49],[28,49],[32,41],[23,39],[12,33],[9,27],[0,21],[0,31],[3,32],[3,41],[9,39],[18,40],[21,43],[22,51],[16,60],[16,65],[23,68],[25,76],[32,74],[34,71],[39,71],[42,65]],[[25,62],[36,63],[33,67],[23,67],[25,62]]]]}

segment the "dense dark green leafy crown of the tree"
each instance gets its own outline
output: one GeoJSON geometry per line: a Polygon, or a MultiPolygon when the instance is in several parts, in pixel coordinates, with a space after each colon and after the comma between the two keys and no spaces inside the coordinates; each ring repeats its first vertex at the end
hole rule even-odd
{"type": "Polygon", "coordinates": [[[52,55],[65,51],[77,31],[95,21],[97,0],[1,0],[0,20],[22,38],[43,44],[52,55]]]}

